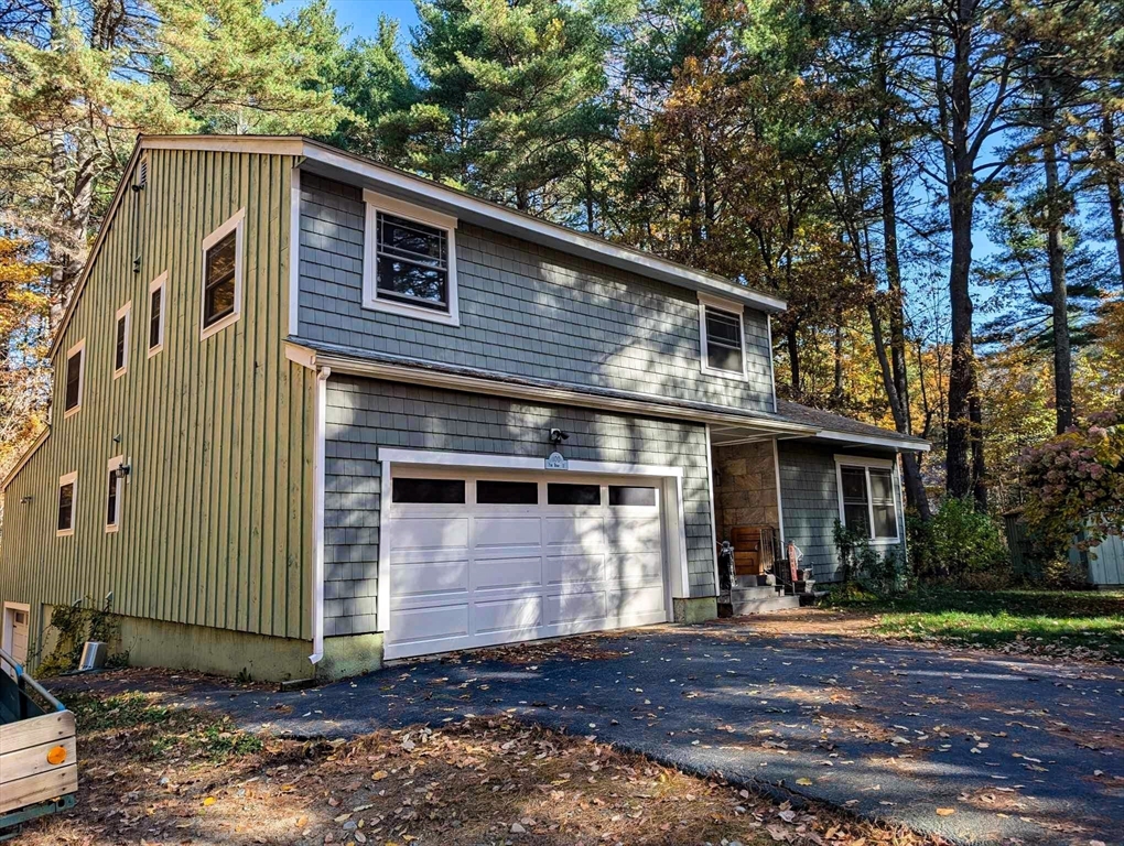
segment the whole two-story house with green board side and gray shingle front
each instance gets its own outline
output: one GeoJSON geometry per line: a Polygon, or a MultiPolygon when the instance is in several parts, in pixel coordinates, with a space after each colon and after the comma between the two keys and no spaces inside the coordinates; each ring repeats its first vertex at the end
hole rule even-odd
{"type": "Polygon", "coordinates": [[[306,138],[143,137],[2,482],[3,645],[108,594],[133,663],[256,679],[699,620],[741,525],[830,581],[927,445],[779,402],[783,308],[306,138]]]}

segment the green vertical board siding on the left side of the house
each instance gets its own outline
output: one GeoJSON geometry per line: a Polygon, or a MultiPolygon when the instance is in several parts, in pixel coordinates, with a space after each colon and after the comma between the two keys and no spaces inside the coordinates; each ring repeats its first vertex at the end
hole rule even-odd
{"type": "Polygon", "coordinates": [[[294,161],[148,156],[148,184],[107,224],[58,345],[51,436],[6,491],[0,599],[31,603],[33,630],[42,603],[111,591],[128,616],[308,639],[315,376],[282,346],[294,161]],[[201,244],[241,208],[242,316],[200,340],[201,244]],[[148,284],[165,270],[164,348],[148,357],[148,284]],[[128,372],[115,380],[115,315],[129,300],[128,372]],[[64,418],[65,355],[82,338],[82,408],[64,418]],[[119,454],[133,472],[107,534],[119,454]],[[58,477],[72,471],[75,531],[56,537],[58,477]]]}

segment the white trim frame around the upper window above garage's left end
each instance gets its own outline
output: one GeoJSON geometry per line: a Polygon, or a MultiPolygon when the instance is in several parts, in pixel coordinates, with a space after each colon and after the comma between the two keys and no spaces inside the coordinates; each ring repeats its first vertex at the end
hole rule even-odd
{"type": "Polygon", "coordinates": [[[363,202],[366,209],[366,219],[363,226],[363,308],[399,317],[413,317],[418,320],[444,324],[445,326],[460,326],[461,312],[456,298],[456,218],[370,190],[363,191],[363,202]],[[398,302],[397,300],[379,299],[375,251],[378,249],[377,220],[380,211],[444,230],[445,245],[448,251],[448,281],[445,293],[448,311],[411,306],[408,302],[398,302]]]}

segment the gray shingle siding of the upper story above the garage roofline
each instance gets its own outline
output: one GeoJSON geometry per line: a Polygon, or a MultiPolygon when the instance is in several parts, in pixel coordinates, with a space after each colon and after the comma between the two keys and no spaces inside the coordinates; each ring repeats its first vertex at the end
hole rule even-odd
{"type": "Polygon", "coordinates": [[[300,337],[390,355],[772,411],[768,318],[745,311],[750,379],[701,372],[692,291],[462,222],[460,327],[362,307],[362,191],[301,176],[300,337]]]}

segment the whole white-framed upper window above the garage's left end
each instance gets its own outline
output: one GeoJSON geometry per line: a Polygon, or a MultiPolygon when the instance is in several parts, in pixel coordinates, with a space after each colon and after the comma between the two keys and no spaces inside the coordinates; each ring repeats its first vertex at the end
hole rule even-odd
{"type": "Polygon", "coordinates": [[[363,197],[363,304],[459,326],[456,219],[371,191],[363,197]]]}

